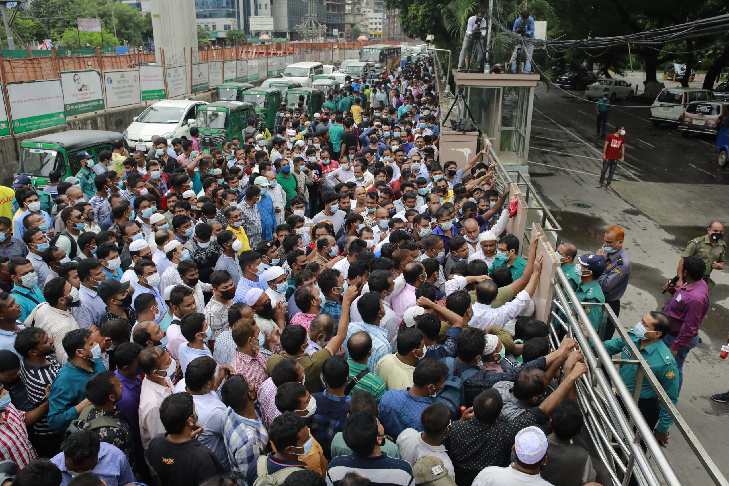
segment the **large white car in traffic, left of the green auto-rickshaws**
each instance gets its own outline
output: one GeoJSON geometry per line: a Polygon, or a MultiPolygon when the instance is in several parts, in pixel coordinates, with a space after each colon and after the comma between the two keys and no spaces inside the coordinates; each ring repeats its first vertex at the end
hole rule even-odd
{"type": "Polygon", "coordinates": [[[173,138],[190,138],[190,128],[195,126],[195,111],[205,101],[163,100],[149,106],[124,130],[124,138],[130,149],[152,149],[152,136],[167,138],[171,146],[173,138]]]}

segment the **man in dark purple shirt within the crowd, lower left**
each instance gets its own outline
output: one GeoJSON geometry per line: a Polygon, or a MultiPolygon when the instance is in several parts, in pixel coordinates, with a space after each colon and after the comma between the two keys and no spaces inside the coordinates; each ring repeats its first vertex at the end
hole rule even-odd
{"type": "Polygon", "coordinates": [[[141,445],[139,434],[139,393],[141,393],[139,353],[142,349],[141,345],[132,341],[118,345],[114,349],[114,363],[117,365],[114,374],[122,382],[122,399],[117,402],[116,407],[132,430],[137,471],[142,477],[147,477],[147,463],[144,462],[144,447],[141,445]]]}

